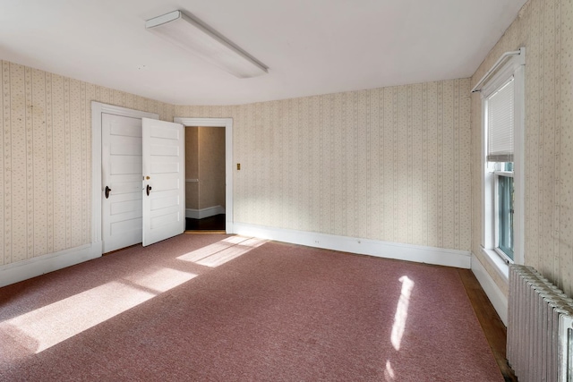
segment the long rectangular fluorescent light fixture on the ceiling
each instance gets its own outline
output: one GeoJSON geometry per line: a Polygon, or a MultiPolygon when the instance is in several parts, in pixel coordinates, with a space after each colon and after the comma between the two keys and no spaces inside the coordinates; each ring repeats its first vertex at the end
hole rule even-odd
{"type": "Polygon", "coordinates": [[[236,77],[256,77],[269,72],[265,64],[181,11],[145,21],[145,28],[236,77]]]}

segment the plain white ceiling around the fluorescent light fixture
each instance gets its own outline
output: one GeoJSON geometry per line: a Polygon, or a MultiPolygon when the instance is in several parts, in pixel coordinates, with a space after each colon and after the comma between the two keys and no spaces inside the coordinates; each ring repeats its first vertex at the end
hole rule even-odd
{"type": "Polygon", "coordinates": [[[0,59],[176,105],[471,76],[526,0],[0,0],[0,59]],[[269,66],[237,79],[145,30],[191,13],[269,66]]]}

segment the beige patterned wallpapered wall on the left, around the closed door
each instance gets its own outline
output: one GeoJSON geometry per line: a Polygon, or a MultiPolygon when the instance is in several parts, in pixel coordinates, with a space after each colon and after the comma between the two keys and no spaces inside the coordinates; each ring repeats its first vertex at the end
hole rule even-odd
{"type": "Polygon", "coordinates": [[[91,100],[175,106],[0,61],[0,265],[91,242],[91,100]]]}

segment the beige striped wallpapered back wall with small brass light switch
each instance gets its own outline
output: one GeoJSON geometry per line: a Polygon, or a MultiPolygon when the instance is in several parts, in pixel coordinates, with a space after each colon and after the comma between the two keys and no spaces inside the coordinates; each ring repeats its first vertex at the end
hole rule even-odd
{"type": "Polygon", "coordinates": [[[469,79],[244,106],[233,117],[235,222],[469,250],[469,79]]]}

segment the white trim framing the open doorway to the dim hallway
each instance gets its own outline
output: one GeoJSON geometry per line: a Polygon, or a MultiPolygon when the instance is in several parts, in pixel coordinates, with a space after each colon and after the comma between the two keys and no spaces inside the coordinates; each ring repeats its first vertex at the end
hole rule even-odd
{"type": "Polygon", "coordinates": [[[227,233],[235,233],[233,229],[233,118],[175,117],[173,122],[184,126],[225,128],[225,230],[227,233]]]}

